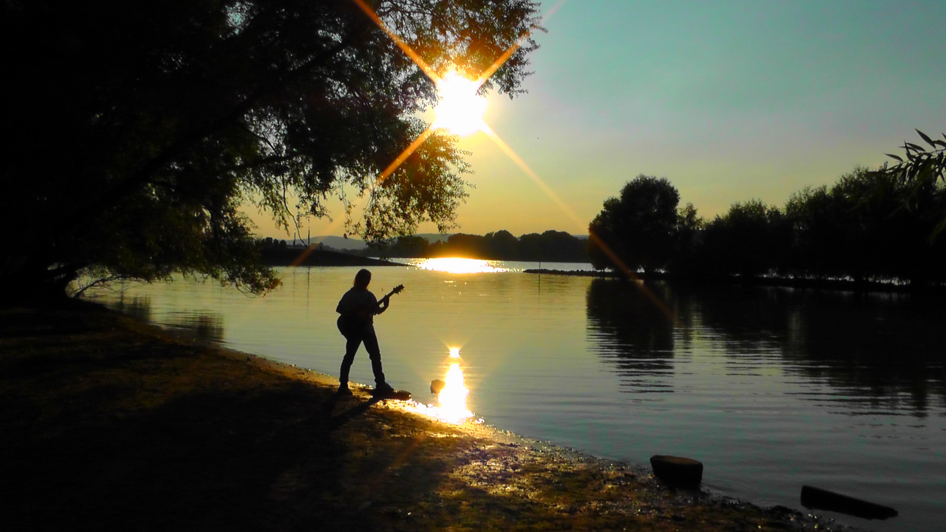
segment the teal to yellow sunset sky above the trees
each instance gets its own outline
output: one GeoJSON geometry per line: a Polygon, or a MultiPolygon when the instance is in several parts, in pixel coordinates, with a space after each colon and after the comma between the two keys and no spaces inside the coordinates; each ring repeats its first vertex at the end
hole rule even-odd
{"type": "MultiPolygon", "coordinates": [[[[535,36],[528,94],[489,95],[484,116],[541,184],[485,133],[463,137],[475,187],[451,232],[585,234],[640,173],[669,179],[708,219],[754,198],[782,205],[920,143],[914,128],[946,131],[942,0],[567,0],[541,11],[556,4],[535,36]]],[[[341,235],[341,205],[329,207],[335,222],[303,231],[341,235]]],[[[287,238],[250,212],[260,236],[287,238]]]]}

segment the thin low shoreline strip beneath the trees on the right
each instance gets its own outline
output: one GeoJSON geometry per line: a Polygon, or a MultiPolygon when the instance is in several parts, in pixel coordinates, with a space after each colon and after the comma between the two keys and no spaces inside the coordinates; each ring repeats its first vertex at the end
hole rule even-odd
{"type": "MultiPolygon", "coordinates": [[[[625,278],[617,272],[595,271],[588,272],[583,270],[546,270],[530,269],[523,270],[525,274],[537,275],[572,275],[581,277],[603,277],[611,279],[625,278]]],[[[946,286],[934,285],[925,287],[916,287],[911,285],[897,285],[893,283],[884,283],[877,281],[848,281],[843,279],[807,279],[807,278],[784,278],[784,277],[727,277],[713,279],[684,279],[666,274],[636,274],[640,280],[666,280],[676,283],[686,283],[690,285],[743,285],[743,286],[773,286],[783,288],[801,288],[801,289],[819,289],[819,290],[837,290],[845,292],[878,292],[878,293],[937,293],[946,294],[946,286]]]]}

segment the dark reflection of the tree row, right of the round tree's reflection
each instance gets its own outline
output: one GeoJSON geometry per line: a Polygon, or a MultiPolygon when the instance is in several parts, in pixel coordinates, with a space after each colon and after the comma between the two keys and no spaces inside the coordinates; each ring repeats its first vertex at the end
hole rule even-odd
{"type": "Polygon", "coordinates": [[[692,297],[703,326],[720,334],[734,357],[777,346],[786,373],[825,380],[868,406],[922,415],[930,396],[946,400],[940,302],[769,287],[714,287],[692,297]]]}

